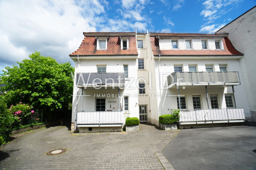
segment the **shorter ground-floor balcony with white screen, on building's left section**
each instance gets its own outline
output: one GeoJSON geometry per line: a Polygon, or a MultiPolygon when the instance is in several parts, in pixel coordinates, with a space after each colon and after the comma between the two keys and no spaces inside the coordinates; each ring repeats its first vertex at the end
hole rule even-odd
{"type": "Polygon", "coordinates": [[[123,111],[77,112],[77,126],[123,126],[123,111]]]}

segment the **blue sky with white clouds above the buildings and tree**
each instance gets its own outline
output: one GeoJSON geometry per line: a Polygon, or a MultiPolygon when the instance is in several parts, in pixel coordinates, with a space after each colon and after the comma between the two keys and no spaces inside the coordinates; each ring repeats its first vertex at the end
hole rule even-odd
{"type": "Polygon", "coordinates": [[[70,61],[88,30],[217,31],[256,0],[0,0],[0,70],[35,50],[70,61]]]}

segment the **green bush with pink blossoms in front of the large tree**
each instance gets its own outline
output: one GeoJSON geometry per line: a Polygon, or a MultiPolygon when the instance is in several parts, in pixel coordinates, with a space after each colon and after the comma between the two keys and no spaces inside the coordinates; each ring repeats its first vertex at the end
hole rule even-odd
{"type": "Polygon", "coordinates": [[[25,125],[29,122],[30,114],[34,113],[31,109],[30,105],[19,102],[16,105],[11,105],[9,112],[15,117],[16,123],[25,125]]]}

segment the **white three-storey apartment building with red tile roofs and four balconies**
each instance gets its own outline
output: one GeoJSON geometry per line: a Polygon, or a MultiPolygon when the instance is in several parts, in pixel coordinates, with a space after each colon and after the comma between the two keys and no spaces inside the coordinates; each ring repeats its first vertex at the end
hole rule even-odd
{"type": "Polygon", "coordinates": [[[75,63],[72,129],[121,131],[125,118],[158,125],[181,109],[180,128],[243,122],[249,112],[228,34],[87,32],[75,63]]]}

